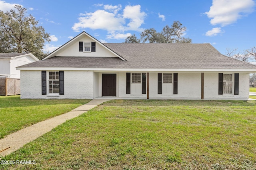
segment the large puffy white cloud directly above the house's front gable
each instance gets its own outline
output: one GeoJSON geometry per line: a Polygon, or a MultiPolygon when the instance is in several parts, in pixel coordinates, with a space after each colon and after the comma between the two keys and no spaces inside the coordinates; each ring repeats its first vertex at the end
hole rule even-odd
{"type": "Polygon", "coordinates": [[[141,12],[140,5],[128,5],[123,10],[121,5],[104,5],[103,10],[80,14],[72,29],[76,32],[85,28],[103,29],[110,34],[108,38],[120,39],[127,35],[124,31],[143,31],[141,25],[145,17],[146,13],[141,12]]]}

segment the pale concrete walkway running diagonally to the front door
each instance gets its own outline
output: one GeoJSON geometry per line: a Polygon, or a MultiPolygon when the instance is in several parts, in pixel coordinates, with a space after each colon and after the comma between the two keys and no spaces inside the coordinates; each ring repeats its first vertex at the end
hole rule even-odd
{"type": "Polygon", "coordinates": [[[53,128],[64,123],[65,121],[77,117],[108,100],[109,99],[93,99],[87,104],[79,106],[68,113],[58,115],[45,121],[36,123],[30,127],[21,129],[20,131],[14,132],[0,140],[0,154],[2,156],[6,156],[15,150],[20,149],[25,144],[34,141],[41,135],[44,135],[44,133],[51,131],[53,128]]]}

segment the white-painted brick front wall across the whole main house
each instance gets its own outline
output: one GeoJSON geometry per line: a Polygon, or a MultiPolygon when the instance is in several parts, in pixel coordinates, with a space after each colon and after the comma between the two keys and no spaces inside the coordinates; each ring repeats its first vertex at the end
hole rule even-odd
{"type": "MultiPolygon", "coordinates": [[[[201,98],[201,73],[178,73],[178,94],[171,94],[170,96],[157,94],[157,73],[149,73],[149,82],[149,98],[201,98]]],[[[101,73],[64,71],[64,95],[42,95],[41,71],[21,70],[20,93],[21,98],[92,99],[101,96],[101,83],[101,73]]],[[[173,88],[173,86],[171,87],[173,88]]],[[[204,99],[248,98],[249,74],[239,74],[239,95],[233,94],[218,95],[218,73],[204,73],[204,99]]],[[[126,94],[126,72],[117,73],[117,96],[146,98],[145,94],[141,96],[126,94]]]]}

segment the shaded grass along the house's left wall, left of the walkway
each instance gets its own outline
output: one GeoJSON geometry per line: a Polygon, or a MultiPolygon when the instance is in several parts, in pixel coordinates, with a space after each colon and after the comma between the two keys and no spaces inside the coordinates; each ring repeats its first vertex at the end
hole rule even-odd
{"type": "Polygon", "coordinates": [[[6,107],[26,107],[26,106],[45,106],[55,104],[85,104],[88,99],[20,99],[18,96],[0,96],[0,108],[6,107]]]}

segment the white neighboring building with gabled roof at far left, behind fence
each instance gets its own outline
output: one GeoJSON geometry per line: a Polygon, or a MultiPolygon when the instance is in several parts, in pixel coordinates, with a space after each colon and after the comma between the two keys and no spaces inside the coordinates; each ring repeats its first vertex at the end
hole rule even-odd
{"type": "Polygon", "coordinates": [[[35,61],[38,59],[31,53],[0,53],[0,77],[20,78],[16,67],[35,61]]]}

